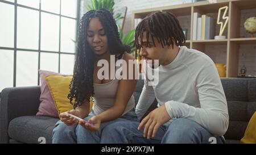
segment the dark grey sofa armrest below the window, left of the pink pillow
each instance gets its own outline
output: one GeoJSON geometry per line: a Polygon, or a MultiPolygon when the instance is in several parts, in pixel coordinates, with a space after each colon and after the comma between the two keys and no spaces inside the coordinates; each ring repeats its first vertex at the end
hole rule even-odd
{"type": "Polygon", "coordinates": [[[9,143],[9,122],[19,116],[36,115],[40,104],[40,86],[10,87],[1,92],[0,143],[9,143]]]}

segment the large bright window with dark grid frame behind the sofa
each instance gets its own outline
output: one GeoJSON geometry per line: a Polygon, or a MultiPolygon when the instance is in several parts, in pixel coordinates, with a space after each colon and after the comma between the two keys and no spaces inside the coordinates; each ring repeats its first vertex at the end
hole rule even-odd
{"type": "Polygon", "coordinates": [[[73,74],[80,0],[0,1],[0,92],[39,85],[38,69],[73,74]]]}

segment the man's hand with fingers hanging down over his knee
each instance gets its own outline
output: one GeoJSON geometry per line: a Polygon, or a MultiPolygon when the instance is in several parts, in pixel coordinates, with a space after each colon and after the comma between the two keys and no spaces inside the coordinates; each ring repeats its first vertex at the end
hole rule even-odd
{"type": "Polygon", "coordinates": [[[155,137],[156,133],[158,132],[158,128],[168,122],[171,117],[166,111],[166,106],[163,104],[162,106],[156,108],[155,110],[151,111],[141,123],[139,123],[138,130],[144,127],[143,137],[147,136],[147,139],[150,137],[155,137]]]}

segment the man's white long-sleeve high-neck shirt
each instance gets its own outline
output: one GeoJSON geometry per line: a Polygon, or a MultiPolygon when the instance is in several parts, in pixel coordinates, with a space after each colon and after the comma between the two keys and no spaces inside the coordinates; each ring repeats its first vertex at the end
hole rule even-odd
{"type": "Polygon", "coordinates": [[[144,81],[136,107],[139,119],[156,98],[158,106],[165,104],[171,118],[188,118],[213,135],[224,135],[228,129],[228,107],[217,68],[210,57],[195,49],[180,47],[174,61],[157,69],[156,85],[149,86],[148,81],[144,81]]]}

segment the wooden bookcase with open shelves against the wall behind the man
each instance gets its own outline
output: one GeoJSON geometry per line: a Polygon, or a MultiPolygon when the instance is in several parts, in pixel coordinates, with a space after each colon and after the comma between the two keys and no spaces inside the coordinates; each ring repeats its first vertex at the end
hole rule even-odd
{"type": "MultiPolygon", "coordinates": [[[[134,27],[135,18],[144,18],[146,15],[155,11],[170,11],[177,16],[181,27],[188,28],[185,46],[208,53],[213,60],[225,62],[226,77],[237,77],[239,74],[240,52],[253,51],[256,45],[256,37],[247,37],[247,32],[243,28],[243,23],[250,16],[255,16],[256,0],[214,0],[200,1],[195,3],[185,3],[175,6],[156,7],[144,10],[135,10],[132,13],[131,23],[134,27]],[[191,40],[193,38],[193,13],[199,12],[201,15],[212,16],[217,22],[218,10],[220,7],[228,6],[228,25],[225,27],[223,35],[227,39],[223,40],[191,40]],[[243,47],[243,44],[245,46],[243,47]],[[253,45],[250,45],[253,44],[253,45]],[[213,47],[211,46],[213,45],[213,47]],[[242,48],[241,48],[242,46],[242,48]]],[[[223,11],[223,10],[222,10],[223,11]]],[[[223,15],[223,12],[222,12],[223,15]]],[[[215,31],[220,31],[220,26],[215,26],[215,31]]],[[[218,33],[214,35],[218,35],[218,33]]],[[[255,70],[255,61],[250,62],[251,70],[255,70]]]]}

